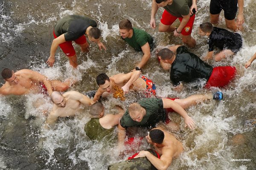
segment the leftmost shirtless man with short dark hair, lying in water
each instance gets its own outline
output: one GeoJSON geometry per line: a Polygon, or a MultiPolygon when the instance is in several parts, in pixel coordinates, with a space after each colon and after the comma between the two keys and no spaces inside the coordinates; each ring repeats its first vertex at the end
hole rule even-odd
{"type": "Polygon", "coordinates": [[[70,81],[60,82],[49,80],[46,76],[28,69],[22,69],[14,73],[8,68],[3,69],[2,77],[5,84],[0,88],[1,95],[23,95],[28,93],[52,94],[52,90],[66,91],[70,87],[70,81]]]}

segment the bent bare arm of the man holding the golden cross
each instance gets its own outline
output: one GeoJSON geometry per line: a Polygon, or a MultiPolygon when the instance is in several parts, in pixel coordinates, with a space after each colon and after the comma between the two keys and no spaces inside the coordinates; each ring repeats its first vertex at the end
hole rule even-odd
{"type": "Polygon", "coordinates": [[[140,70],[137,70],[128,74],[117,74],[113,76],[113,79],[115,79],[116,84],[123,84],[126,82],[125,85],[122,86],[122,90],[124,91],[124,94],[127,94],[129,92],[129,87],[140,77],[140,74],[140,70]]]}

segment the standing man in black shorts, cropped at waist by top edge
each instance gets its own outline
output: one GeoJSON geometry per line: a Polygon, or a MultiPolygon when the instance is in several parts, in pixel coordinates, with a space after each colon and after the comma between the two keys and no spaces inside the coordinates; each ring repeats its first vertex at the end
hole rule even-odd
{"type": "Polygon", "coordinates": [[[233,31],[242,30],[244,23],[244,0],[211,0],[210,2],[210,21],[212,24],[217,24],[221,10],[224,10],[226,26],[233,31]],[[238,15],[237,3],[239,6],[238,15]],[[236,18],[236,22],[235,22],[236,18]]]}

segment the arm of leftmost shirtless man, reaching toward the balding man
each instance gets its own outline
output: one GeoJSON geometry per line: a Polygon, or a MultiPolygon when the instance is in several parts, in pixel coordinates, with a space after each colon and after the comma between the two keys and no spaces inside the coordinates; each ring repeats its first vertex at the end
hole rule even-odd
{"type": "Polygon", "coordinates": [[[28,69],[24,69],[23,73],[29,78],[32,79],[34,81],[38,81],[38,82],[43,82],[44,85],[47,88],[47,91],[49,93],[49,95],[52,94],[52,84],[51,81],[44,75],[38,73],[37,71],[32,71],[32,70],[28,70],[28,69]]]}

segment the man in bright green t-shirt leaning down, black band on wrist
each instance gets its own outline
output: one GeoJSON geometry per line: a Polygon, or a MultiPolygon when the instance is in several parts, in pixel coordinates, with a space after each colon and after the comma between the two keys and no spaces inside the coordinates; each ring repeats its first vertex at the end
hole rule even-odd
{"type": "Polygon", "coordinates": [[[119,23],[119,32],[121,38],[131,45],[132,48],[143,52],[141,61],[132,71],[140,70],[150,58],[150,50],[154,47],[153,37],[144,30],[132,27],[131,22],[127,19],[119,23]]]}

